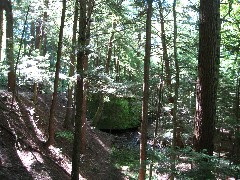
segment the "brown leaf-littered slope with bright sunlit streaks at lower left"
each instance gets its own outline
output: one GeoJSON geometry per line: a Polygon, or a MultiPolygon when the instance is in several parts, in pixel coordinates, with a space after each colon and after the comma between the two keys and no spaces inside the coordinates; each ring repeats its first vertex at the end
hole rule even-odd
{"type": "MultiPolygon", "coordinates": [[[[60,135],[64,132],[66,99],[59,96],[55,117],[56,142],[46,148],[51,95],[40,95],[36,106],[30,92],[19,93],[16,101],[11,97],[7,91],[0,91],[0,179],[70,179],[72,143],[63,138],[64,133],[60,135]]],[[[112,163],[113,137],[89,125],[86,136],[80,179],[127,179],[112,163]]]]}

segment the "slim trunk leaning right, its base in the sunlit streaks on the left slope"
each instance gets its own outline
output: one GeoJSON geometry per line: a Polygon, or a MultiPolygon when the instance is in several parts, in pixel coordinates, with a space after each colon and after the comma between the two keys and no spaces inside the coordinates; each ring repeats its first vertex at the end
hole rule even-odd
{"type": "Polygon", "coordinates": [[[65,12],[66,12],[66,0],[63,0],[61,26],[60,26],[59,40],[58,40],[56,71],[55,71],[55,79],[54,79],[54,90],[52,95],[52,104],[50,109],[50,117],[49,117],[49,125],[48,125],[49,137],[46,142],[47,146],[54,144],[54,135],[55,135],[55,119],[54,119],[55,117],[54,116],[55,116],[55,109],[57,104],[57,89],[58,89],[58,81],[59,81],[60,62],[61,62],[61,56],[62,56],[62,41],[63,41],[65,12]]]}

